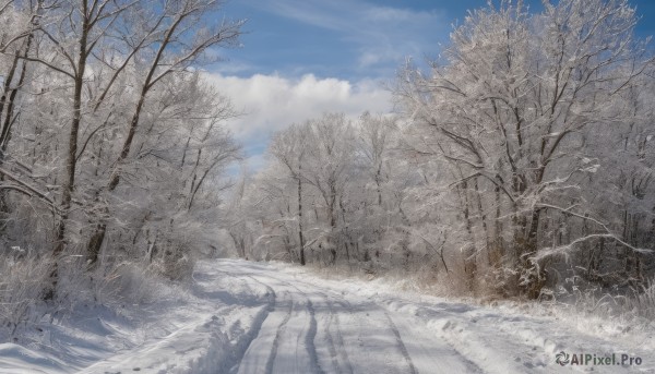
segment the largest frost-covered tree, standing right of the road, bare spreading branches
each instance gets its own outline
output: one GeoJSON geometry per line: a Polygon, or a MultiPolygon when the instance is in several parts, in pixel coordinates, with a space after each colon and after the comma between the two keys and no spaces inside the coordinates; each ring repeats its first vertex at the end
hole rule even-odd
{"type": "Polygon", "coordinates": [[[581,243],[604,238],[643,252],[581,193],[609,167],[588,138],[644,116],[630,97],[653,60],[633,38],[635,23],[627,1],[546,2],[540,14],[502,2],[471,13],[429,74],[407,67],[397,81],[397,100],[428,134],[417,147],[452,170],[443,182],[463,201],[475,248],[468,261],[475,266],[485,250],[501,258],[490,265],[531,298],[553,256],[581,243]],[[592,230],[559,241],[553,219],[592,230]]]}

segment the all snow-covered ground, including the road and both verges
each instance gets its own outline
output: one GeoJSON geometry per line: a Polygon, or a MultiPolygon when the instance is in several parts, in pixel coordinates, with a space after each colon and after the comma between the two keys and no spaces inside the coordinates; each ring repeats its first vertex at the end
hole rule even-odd
{"type": "Polygon", "coordinates": [[[198,264],[189,289],[146,306],[82,309],[25,347],[0,345],[0,373],[655,373],[647,331],[580,326],[381,281],[215,260],[198,264]],[[579,354],[592,362],[571,365],[579,354]],[[605,364],[593,365],[594,354],[605,364]],[[633,364],[620,365],[622,354],[633,364]]]}

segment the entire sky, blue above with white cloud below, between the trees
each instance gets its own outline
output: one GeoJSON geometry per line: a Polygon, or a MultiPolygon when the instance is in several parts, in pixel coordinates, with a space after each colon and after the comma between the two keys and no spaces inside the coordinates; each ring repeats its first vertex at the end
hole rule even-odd
{"type": "MultiPolygon", "coordinates": [[[[495,1],[498,3],[498,1],[495,1]]],[[[532,10],[540,0],[525,0],[532,10]]],[[[391,110],[384,83],[408,58],[438,56],[453,25],[487,0],[229,0],[229,19],[248,19],[242,48],[222,50],[210,79],[245,112],[229,123],[251,170],[272,132],[343,111],[391,110]]],[[[632,0],[640,36],[655,34],[655,1],[632,0]]]]}

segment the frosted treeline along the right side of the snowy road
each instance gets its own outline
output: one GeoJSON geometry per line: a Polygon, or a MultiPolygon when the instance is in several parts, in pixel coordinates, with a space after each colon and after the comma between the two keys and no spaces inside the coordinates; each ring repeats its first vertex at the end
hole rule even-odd
{"type": "Polygon", "coordinates": [[[461,294],[640,292],[655,272],[653,48],[621,0],[477,10],[397,114],[279,132],[236,193],[249,258],[436,277],[461,294]]]}

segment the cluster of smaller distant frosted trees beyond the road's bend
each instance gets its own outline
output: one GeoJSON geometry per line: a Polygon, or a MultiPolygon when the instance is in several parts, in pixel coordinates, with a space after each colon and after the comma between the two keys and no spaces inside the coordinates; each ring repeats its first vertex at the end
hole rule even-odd
{"type": "Polygon", "coordinates": [[[392,249],[408,236],[397,228],[406,183],[393,178],[406,169],[394,157],[398,134],[395,118],[370,113],[357,120],[324,113],[275,134],[271,164],[246,193],[261,214],[261,225],[251,225],[263,231],[251,244],[266,253],[259,257],[369,270],[373,261],[394,257],[392,249]],[[381,243],[388,249],[381,251],[381,243]]]}

